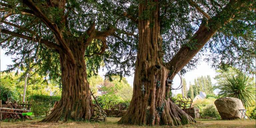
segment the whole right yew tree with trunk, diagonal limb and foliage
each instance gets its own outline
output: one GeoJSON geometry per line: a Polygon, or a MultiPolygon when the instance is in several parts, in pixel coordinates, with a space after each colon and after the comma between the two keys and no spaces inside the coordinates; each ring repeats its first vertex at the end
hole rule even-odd
{"type": "Polygon", "coordinates": [[[209,54],[205,56],[214,61],[213,66],[253,69],[254,1],[139,0],[129,5],[124,16],[137,23],[139,42],[133,97],[119,123],[173,126],[195,122],[169,99],[172,86],[167,79],[172,80],[186,65],[193,67],[200,59],[198,52],[209,54]]]}

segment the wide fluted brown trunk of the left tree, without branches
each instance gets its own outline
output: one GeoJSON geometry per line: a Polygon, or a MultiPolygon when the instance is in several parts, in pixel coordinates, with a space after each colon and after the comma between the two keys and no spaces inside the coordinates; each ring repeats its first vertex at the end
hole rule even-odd
{"type": "Polygon", "coordinates": [[[70,49],[76,64],[72,64],[69,56],[60,53],[62,93],[61,99],[50,115],[42,122],[57,122],[58,120],[89,120],[93,105],[89,84],[86,76],[84,47],[80,41],[71,41],[70,49]]]}

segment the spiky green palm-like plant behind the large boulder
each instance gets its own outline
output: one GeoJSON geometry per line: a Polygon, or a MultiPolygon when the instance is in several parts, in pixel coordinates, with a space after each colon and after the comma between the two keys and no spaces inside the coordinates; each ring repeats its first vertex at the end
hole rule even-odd
{"type": "Polygon", "coordinates": [[[255,85],[244,74],[227,77],[224,82],[219,83],[217,89],[220,90],[220,97],[235,97],[243,102],[247,108],[255,100],[255,85]]]}

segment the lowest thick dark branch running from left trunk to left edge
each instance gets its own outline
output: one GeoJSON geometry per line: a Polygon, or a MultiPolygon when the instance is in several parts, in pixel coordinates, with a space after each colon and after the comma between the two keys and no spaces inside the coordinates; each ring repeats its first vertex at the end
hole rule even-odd
{"type": "Polygon", "coordinates": [[[16,36],[16,37],[19,37],[19,38],[23,38],[23,39],[26,39],[26,40],[30,40],[30,41],[35,41],[35,42],[41,42],[43,44],[45,44],[47,47],[51,48],[51,49],[55,49],[55,50],[58,50],[60,51],[60,46],[53,43],[53,42],[50,42],[48,40],[45,40],[45,39],[39,39],[38,37],[37,38],[33,38],[33,37],[29,37],[29,36],[26,36],[26,35],[23,35],[23,34],[20,34],[20,33],[16,33],[16,32],[12,32],[12,31],[9,31],[9,30],[6,30],[6,29],[2,29],[1,30],[2,33],[5,33],[5,34],[8,34],[8,35],[12,35],[12,36],[16,36]]]}

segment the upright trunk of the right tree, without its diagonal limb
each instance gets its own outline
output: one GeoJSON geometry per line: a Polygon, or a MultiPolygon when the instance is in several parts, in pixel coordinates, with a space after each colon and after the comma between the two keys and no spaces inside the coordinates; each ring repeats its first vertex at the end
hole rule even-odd
{"type": "MultiPolygon", "coordinates": [[[[139,17],[150,3],[140,3],[139,17]]],[[[166,94],[169,70],[162,62],[162,38],[158,3],[149,18],[139,19],[139,49],[133,83],[133,97],[126,114],[118,123],[144,125],[185,125],[195,120],[174,104],[166,94]],[[157,81],[160,81],[158,85],[157,81]],[[144,84],[145,92],[141,91],[144,84]]],[[[153,7],[152,7],[153,8],[153,7]]],[[[172,79],[172,78],[171,78],[172,79]]]]}

